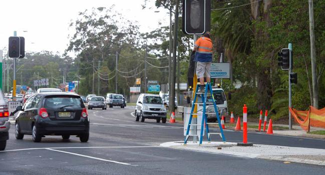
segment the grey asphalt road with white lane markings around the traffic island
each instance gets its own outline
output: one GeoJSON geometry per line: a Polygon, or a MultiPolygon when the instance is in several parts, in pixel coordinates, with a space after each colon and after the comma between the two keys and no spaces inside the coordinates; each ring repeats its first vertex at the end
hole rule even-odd
{"type": "MultiPolygon", "coordinates": [[[[88,110],[90,139],[81,143],[71,136],[46,136],[35,143],[31,135],[15,138],[10,130],[6,151],[0,152],[0,174],[323,174],[324,167],[283,163],[159,146],[183,140],[183,125],[135,121],[134,108],[88,110]]],[[[241,141],[242,133],[225,130],[227,141],[241,141]]],[[[216,138],[215,139],[219,139],[216,138]]],[[[324,148],[325,141],[249,133],[248,140],[274,144],[324,148]]]]}

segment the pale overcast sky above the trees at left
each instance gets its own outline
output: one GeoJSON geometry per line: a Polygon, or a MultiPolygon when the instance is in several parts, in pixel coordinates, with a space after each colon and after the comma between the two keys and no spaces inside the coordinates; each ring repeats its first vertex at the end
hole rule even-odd
{"type": "Polygon", "coordinates": [[[17,31],[25,37],[25,50],[48,50],[64,53],[69,43],[71,20],[75,21],[78,12],[92,7],[110,7],[131,21],[138,21],[140,32],[149,32],[169,24],[169,14],[164,8],[156,8],[155,0],[148,0],[147,8],[142,9],[145,0],[1,0],[0,1],[0,50],[8,47],[9,36],[17,31]],[[159,11],[159,12],[155,12],[159,11]]]}

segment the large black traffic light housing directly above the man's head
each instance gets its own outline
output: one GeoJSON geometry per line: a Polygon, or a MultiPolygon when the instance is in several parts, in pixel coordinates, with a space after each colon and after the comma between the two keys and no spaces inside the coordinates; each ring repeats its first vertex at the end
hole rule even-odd
{"type": "Polygon", "coordinates": [[[210,31],[211,0],[183,0],[183,27],[185,34],[203,34],[210,31]]]}

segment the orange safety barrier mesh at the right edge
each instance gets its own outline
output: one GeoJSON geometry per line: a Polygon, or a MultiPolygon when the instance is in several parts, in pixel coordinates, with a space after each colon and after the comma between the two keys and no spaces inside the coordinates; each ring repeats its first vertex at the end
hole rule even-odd
{"type": "Polygon", "coordinates": [[[289,110],[303,130],[308,131],[309,126],[325,128],[325,108],[316,109],[310,106],[309,110],[302,111],[289,107],[289,110]]]}

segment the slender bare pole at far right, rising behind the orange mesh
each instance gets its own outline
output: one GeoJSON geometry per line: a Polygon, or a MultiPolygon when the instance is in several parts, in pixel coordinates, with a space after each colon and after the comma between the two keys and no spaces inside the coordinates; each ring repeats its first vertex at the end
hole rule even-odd
{"type": "Polygon", "coordinates": [[[313,107],[318,109],[318,86],[317,86],[317,67],[316,67],[316,48],[313,24],[313,2],[308,0],[309,4],[309,36],[310,36],[310,58],[311,58],[311,76],[312,76],[312,94],[313,107]]]}

